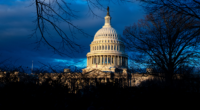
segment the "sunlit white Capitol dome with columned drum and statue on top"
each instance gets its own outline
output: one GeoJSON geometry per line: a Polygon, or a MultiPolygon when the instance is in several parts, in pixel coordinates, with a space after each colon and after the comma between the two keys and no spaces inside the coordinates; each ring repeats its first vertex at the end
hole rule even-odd
{"type": "Polygon", "coordinates": [[[83,72],[94,69],[101,71],[116,72],[120,70],[127,72],[128,55],[125,53],[124,42],[121,36],[111,26],[109,7],[105,16],[105,24],[99,29],[94,40],[90,44],[90,52],[87,53],[87,66],[83,72]]]}

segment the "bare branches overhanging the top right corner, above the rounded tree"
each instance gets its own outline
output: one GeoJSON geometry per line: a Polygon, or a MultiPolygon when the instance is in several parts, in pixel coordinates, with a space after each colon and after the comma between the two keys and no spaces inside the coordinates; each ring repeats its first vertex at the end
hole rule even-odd
{"type": "MultiPolygon", "coordinates": [[[[173,12],[191,16],[200,20],[199,0],[139,0],[147,13],[155,13],[157,10],[164,10],[162,13],[173,12]]],[[[199,27],[197,27],[199,28],[199,27]]]]}

